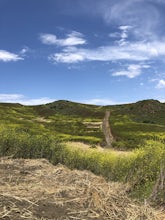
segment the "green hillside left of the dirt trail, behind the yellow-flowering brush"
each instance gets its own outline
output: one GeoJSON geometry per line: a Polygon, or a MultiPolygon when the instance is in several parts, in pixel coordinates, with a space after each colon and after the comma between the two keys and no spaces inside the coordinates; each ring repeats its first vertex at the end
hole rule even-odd
{"type": "Polygon", "coordinates": [[[103,111],[96,106],[67,101],[42,106],[3,103],[0,104],[0,115],[0,130],[14,128],[29,134],[44,133],[60,140],[91,144],[101,143],[104,140],[100,126],[88,126],[89,123],[101,123],[104,117],[103,111]]]}

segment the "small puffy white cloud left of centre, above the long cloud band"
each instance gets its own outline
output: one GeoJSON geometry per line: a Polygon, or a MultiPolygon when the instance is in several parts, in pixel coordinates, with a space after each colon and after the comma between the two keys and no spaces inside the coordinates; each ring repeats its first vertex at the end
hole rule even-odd
{"type": "Polygon", "coordinates": [[[43,44],[58,45],[58,46],[75,46],[86,44],[83,34],[77,31],[72,31],[65,39],[58,39],[53,34],[41,34],[40,40],[43,44]]]}

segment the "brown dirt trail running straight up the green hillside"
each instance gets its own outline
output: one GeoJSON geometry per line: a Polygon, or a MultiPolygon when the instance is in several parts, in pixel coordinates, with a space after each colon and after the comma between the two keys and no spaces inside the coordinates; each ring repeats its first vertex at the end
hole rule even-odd
{"type": "Polygon", "coordinates": [[[109,118],[110,118],[110,111],[107,110],[105,112],[105,117],[104,117],[103,123],[102,123],[102,131],[105,135],[107,147],[111,147],[112,142],[114,141],[114,137],[112,135],[110,124],[109,124],[109,118]]]}

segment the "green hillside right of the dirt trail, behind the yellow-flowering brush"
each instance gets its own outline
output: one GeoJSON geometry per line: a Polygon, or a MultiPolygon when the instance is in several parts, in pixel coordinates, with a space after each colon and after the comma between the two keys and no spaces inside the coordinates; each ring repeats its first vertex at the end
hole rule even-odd
{"type": "Polygon", "coordinates": [[[136,148],[146,139],[165,140],[165,103],[144,100],[108,108],[112,131],[118,141],[115,146],[136,148]]]}

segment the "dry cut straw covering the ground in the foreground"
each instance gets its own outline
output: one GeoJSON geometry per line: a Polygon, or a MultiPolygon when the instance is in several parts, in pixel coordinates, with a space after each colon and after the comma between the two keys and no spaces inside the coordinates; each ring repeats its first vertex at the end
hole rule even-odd
{"type": "Polygon", "coordinates": [[[127,186],[47,160],[0,158],[0,219],[163,220],[128,198],[127,186]]]}

